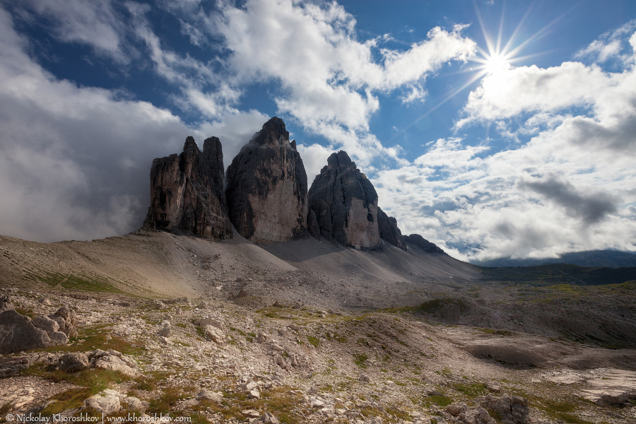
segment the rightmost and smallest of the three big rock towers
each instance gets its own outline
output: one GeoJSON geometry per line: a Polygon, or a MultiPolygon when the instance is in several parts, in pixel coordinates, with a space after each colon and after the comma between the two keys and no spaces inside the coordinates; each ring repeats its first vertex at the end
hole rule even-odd
{"type": "Polygon", "coordinates": [[[346,152],[329,156],[309,191],[309,207],[327,240],[358,249],[379,247],[377,193],[346,152]]]}

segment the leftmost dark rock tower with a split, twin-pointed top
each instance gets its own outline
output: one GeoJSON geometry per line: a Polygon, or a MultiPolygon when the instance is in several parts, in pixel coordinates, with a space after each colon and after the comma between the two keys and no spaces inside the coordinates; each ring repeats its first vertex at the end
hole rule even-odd
{"type": "Polygon", "coordinates": [[[211,239],[232,237],[219,139],[206,139],[201,152],[188,137],[180,155],[153,160],[151,206],[143,226],[211,239]]]}

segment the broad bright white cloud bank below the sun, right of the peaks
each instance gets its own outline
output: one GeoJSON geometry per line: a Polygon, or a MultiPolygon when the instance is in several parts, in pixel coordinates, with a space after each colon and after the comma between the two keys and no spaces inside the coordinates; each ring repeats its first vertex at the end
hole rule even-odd
{"type": "MultiPolygon", "coordinates": [[[[621,31],[624,45],[634,35],[621,31]]],[[[488,151],[460,137],[432,141],[413,163],[378,172],[382,207],[403,232],[464,259],[636,249],[631,54],[616,71],[568,61],[485,76],[457,129],[494,124],[516,144],[488,151]]]]}

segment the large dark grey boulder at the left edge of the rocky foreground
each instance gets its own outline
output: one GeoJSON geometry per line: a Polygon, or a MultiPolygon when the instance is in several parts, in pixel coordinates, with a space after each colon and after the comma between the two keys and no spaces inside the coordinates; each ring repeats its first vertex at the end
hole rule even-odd
{"type": "Polygon", "coordinates": [[[47,332],[34,326],[29,317],[16,310],[0,313],[0,354],[43,348],[51,344],[47,332]]]}

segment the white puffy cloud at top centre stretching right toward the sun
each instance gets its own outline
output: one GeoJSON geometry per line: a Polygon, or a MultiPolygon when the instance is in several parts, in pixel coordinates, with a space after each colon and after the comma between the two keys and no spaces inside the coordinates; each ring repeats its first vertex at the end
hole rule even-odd
{"type": "Polygon", "coordinates": [[[373,52],[384,37],[358,41],[355,19],[335,2],[249,0],[241,8],[225,4],[221,13],[211,22],[230,50],[235,81],[281,84],[278,111],[346,148],[360,165],[395,158],[369,131],[379,109],[376,93],[404,89],[404,101],[421,99],[421,83],[430,73],[448,61],[466,60],[476,49],[461,37],[462,27],[433,28],[427,40],[406,51],[379,49],[382,60],[376,61],[373,52]]]}

